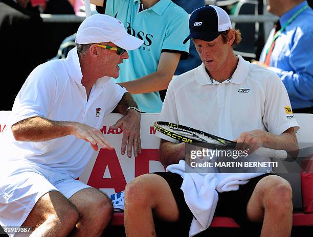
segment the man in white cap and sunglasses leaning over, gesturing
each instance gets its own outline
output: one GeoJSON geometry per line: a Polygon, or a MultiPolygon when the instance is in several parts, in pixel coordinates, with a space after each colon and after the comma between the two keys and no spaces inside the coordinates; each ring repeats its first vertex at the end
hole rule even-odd
{"type": "Polygon", "coordinates": [[[32,236],[100,236],[110,221],[110,200],[77,177],[99,148],[113,149],[99,132],[110,112],[124,116],[121,153],[137,156],[140,113],[117,85],[126,50],[143,41],[106,15],[85,19],[77,48],[64,60],[36,67],[19,91],[3,134],[0,225],[29,226],[32,236]],[[93,149],[92,149],[93,148],[93,149]]]}

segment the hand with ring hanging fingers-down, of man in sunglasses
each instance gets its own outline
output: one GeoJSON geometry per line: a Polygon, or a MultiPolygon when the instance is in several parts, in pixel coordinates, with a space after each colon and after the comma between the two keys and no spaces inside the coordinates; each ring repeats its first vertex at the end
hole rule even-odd
{"type": "Polygon", "coordinates": [[[140,119],[141,114],[134,110],[129,109],[127,114],[120,118],[115,125],[110,126],[111,129],[123,129],[123,138],[121,146],[121,154],[124,155],[127,144],[127,156],[131,157],[131,149],[133,154],[138,156],[141,153],[141,140],[140,140],[140,119]]]}

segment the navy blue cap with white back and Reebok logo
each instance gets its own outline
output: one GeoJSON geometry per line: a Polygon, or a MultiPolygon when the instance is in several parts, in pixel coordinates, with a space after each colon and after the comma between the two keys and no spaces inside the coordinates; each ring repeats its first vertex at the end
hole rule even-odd
{"type": "Polygon", "coordinates": [[[228,14],[217,6],[204,6],[194,10],[189,19],[190,34],[184,40],[201,39],[212,41],[216,39],[221,32],[232,29],[228,14]],[[222,19],[222,20],[221,20],[222,19]],[[221,24],[220,21],[225,21],[221,24]]]}

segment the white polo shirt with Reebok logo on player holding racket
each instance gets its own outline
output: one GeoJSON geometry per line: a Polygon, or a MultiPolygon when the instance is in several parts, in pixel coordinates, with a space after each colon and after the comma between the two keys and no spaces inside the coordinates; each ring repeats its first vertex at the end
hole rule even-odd
{"type": "MultiPolygon", "coordinates": [[[[210,79],[205,65],[175,77],[169,84],[160,121],[193,127],[229,140],[241,132],[261,129],[281,134],[299,129],[287,91],[279,77],[237,56],[230,80],[210,79]]],[[[176,142],[164,134],[163,139],[176,142]]]]}

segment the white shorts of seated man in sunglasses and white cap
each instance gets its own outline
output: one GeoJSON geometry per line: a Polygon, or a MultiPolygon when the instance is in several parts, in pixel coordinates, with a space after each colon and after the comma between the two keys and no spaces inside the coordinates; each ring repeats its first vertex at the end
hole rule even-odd
{"type": "Polygon", "coordinates": [[[87,187],[91,186],[44,165],[5,162],[0,169],[0,225],[21,226],[38,199],[50,191],[59,191],[69,199],[87,187]]]}

